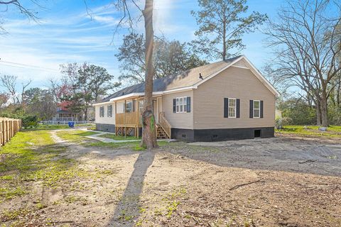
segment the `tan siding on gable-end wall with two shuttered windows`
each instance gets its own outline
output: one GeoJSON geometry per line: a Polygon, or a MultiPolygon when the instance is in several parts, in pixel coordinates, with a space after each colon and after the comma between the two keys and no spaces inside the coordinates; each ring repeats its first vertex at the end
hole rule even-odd
{"type": "Polygon", "coordinates": [[[274,127],[275,96],[250,70],[229,67],[193,94],[194,129],[274,127]],[[224,118],[224,98],[240,99],[240,118],[224,118]],[[264,118],[249,118],[249,100],[264,101],[264,118]]]}

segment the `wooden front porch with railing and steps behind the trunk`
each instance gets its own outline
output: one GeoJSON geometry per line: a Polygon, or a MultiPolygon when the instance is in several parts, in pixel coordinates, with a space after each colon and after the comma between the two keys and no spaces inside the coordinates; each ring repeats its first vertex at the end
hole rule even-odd
{"type": "MultiPolygon", "coordinates": [[[[142,113],[144,111],[144,97],[139,96],[134,99],[124,99],[115,102],[115,133],[116,135],[141,136],[142,113]],[[123,105],[120,103],[124,103],[123,105]],[[120,113],[123,106],[123,113],[120,113]]],[[[153,98],[153,113],[156,118],[156,135],[158,139],[171,138],[171,124],[167,121],[162,111],[162,97],[153,98]]]]}

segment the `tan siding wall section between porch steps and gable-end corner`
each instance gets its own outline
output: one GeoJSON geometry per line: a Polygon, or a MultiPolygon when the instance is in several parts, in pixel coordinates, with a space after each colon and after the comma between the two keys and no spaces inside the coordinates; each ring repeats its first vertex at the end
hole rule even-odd
{"type": "Polygon", "coordinates": [[[176,92],[162,96],[162,110],[172,128],[193,129],[193,91],[176,92]],[[173,99],[177,97],[190,97],[190,113],[173,113],[173,99]]]}

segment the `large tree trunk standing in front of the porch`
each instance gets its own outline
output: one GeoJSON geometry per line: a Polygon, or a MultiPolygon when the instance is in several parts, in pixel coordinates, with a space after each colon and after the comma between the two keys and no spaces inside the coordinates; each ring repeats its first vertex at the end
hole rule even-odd
{"type": "Polygon", "coordinates": [[[144,90],[144,114],[141,146],[147,149],[157,148],[156,124],[153,114],[153,0],[146,0],[144,7],[144,27],[146,30],[146,79],[144,90]]]}

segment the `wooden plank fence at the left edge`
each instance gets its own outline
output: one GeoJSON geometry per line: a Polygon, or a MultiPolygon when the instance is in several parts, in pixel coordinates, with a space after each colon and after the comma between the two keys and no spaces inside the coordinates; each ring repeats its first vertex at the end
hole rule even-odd
{"type": "Polygon", "coordinates": [[[0,118],[0,145],[3,146],[21,131],[21,120],[0,118]]]}

